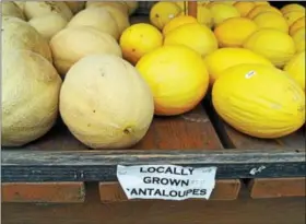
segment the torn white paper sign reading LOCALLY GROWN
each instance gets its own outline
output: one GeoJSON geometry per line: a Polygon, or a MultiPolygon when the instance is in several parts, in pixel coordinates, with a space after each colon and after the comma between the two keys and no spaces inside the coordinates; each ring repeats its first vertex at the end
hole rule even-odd
{"type": "Polygon", "coordinates": [[[117,166],[117,178],[128,199],[209,199],[215,174],[216,167],[117,166]]]}

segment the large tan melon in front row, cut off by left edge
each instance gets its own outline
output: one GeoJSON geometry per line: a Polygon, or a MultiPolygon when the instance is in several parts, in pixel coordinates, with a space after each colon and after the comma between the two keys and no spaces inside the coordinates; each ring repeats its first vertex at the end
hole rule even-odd
{"type": "Polygon", "coordinates": [[[54,126],[61,79],[49,61],[30,50],[8,51],[2,60],[1,145],[20,146],[54,126]]]}

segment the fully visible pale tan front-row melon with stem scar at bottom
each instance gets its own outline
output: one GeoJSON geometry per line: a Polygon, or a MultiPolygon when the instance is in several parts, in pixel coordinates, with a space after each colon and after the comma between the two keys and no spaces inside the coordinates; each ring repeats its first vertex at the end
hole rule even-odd
{"type": "Polygon", "coordinates": [[[60,114],[71,133],[92,149],[122,149],[139,142],[153,119],[150,87],[138,71],[111,55],[79,60],[66,75],[60,114]]]}

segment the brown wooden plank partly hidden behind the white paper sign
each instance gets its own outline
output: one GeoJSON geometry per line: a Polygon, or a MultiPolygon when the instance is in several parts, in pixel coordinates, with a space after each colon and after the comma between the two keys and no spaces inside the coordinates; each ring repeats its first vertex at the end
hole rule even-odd
{"type": "MultiPolygon", "coordinates": [[[[239,190],[239,180],[217,180],[210,200],[235,200],[238,197],[239,190]]],[[[128,201],[128,198],[126,197],[125,191],[122,190],[119,182],[101,182],[99,197],[103,202],[108,203],[128,201]]]]}

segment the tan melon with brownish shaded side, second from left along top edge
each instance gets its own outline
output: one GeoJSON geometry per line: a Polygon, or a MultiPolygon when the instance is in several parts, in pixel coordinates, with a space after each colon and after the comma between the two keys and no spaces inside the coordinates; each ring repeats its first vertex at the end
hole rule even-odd
{"type": "Polygon", "coordinates": [[[50,12],[60,14],[67,21],[70,21],[73,16],[63,1],[26,1],[24,5],[24,13],[27,20],[39,17],[50,12]]]}

